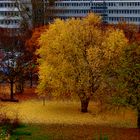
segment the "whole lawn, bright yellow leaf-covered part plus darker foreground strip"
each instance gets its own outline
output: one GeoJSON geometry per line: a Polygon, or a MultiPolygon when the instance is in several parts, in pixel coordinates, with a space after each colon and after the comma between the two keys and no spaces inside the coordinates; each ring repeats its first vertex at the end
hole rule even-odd
{"type": "Polygon", "coordinates": [[[1,104],[0,112],[24,124],[14,130],[12,140],[93,140],[100,135],[109,140],[140,139],[131,109],[100,113],[98,104],[90,102],[89,112],[81,113],[80,102],[46,101],[44,106],[37,98],[1,104]]]}

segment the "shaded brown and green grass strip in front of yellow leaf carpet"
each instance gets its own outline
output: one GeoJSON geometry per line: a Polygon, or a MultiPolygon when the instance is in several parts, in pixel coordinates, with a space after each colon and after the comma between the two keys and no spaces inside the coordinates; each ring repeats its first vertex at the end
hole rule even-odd
{"type": "Polygon", "coordinates": [[[140,130],[77,124],[26,124],[11,140],[139,140],[140,130]]]}

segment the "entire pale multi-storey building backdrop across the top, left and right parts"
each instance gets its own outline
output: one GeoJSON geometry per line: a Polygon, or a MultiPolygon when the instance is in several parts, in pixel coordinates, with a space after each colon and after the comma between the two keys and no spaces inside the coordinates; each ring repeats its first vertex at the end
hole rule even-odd
{"type": "Polygon", "coordinates": [[[33,26],[54,18],[82,18],[94,12],[105,23],[126,21],[140,25],[140,0],[0,0],[0,28],[18,29],[21,21],[33,26]],[[30,17],[27,13],[30,13],[30,17]]]}

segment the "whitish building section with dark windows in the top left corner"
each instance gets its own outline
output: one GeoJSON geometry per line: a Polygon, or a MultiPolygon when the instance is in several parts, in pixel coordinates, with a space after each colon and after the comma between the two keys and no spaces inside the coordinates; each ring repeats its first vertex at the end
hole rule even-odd
{"type": "Polygon", "coordinates": [[[30,0],[0,0],[0,28],[18,29],[31,6],[30,0]]]}

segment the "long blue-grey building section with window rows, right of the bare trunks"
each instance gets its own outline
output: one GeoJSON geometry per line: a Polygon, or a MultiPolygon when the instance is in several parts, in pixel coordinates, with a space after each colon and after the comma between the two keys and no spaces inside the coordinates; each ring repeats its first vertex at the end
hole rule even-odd
{"type": "Polygon", "coordinates": [[[94,12],[106,23],[125,21],[140,25],[140,0],[57,0],[53,6],[46,2],[48,20],[85,17],[94,12]]]}

